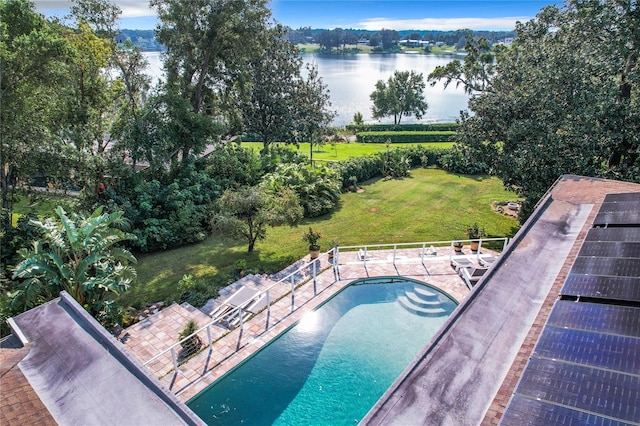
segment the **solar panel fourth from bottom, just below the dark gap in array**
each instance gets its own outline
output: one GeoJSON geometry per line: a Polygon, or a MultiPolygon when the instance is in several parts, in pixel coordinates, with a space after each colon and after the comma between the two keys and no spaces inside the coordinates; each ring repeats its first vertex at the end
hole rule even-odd
{"type": "Polygon", "coordinates": [[[547,326],[640,337],[640,308],[558,300],[547,326]]]}

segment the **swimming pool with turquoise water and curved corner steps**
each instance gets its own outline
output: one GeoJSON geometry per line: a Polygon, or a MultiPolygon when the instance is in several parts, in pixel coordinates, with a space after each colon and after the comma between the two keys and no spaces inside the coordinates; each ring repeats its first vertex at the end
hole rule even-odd
{"type": "Polygon", "coordinates": [[[456,306],[410,279],[355,281],[187,405],[216,425],[352,425],[456,306]]]}

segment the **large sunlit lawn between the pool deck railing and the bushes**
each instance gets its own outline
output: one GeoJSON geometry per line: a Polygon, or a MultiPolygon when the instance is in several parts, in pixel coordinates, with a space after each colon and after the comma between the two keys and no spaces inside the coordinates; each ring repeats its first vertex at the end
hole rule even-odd
{"type": "Polygon", "coordinates": [[[307,254],[302,234],[309,226],[322,234],[323,251],[331,240],[345,246],[463,239],[466,226],[474,222],[492,237],[517,231],[514,219],[491,208],[494,201],[516,199],[500,180],[422,168],[411,175],[365,182],[363,192],[343,194],[336,211],[297,228],[269,228],[266,240],[259,241],[251,255],[244,242],[223,243],[212,236],[200,244],[140,256],[138,283],[121,302],[144,305],[177,299],[176,285],[184,274],[211,282],[219,273],[231,274],[239,259],[246,260],[248,270],[276,272],[307,254]]]}

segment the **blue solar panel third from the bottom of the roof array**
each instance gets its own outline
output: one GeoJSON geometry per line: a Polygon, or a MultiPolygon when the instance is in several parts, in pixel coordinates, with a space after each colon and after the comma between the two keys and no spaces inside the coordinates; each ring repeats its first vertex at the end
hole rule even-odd
{"type": "Polygon", "coordinates": [[[584,366],[640,374],[640,338],[545,327],[534,355],[584,366]]]}

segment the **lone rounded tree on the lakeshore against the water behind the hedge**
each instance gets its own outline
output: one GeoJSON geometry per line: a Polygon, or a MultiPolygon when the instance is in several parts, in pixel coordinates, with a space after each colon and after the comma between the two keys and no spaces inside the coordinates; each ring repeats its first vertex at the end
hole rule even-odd
{"type": "Polygon", "coordinates": [[[370,96],[373,117],[393,115],[393,123],[400,124],[403,115],[415,114],[419,120],[428,108],[424,88],[422,74],[414,71],[395,71],[387,83],[378,80],[376,90],[370,96]]]}

